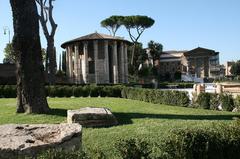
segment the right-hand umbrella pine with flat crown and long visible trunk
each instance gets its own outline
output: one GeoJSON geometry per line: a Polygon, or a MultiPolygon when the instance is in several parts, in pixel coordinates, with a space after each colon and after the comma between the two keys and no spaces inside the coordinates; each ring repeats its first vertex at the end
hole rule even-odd
{"type": "Polygon", "coordinates": [[[122,24],[128,31],[129,37],[133,42],[133,49],[131,55],[131,65],[135,65],[136,55],[135,49],[138,43],[139,38],[143,34],[143,32],[150,28],[154,24],[154,20],[148,16],[134,15],[134,16],[125,16],[122,24]],[[134,33],[135,31],[135,33],[134,33]]]}

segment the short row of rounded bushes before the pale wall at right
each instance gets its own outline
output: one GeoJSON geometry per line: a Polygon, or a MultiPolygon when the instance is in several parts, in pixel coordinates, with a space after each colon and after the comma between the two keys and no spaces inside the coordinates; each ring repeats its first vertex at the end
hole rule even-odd
{"type": "Polygon", "coordinates": [[[234,101],[231,94],[200,93],[193,100],[193,107],[217,110],[221,106],[223,110],[232,111],[237,107],[238,99],[239,97],[234,101]]]}

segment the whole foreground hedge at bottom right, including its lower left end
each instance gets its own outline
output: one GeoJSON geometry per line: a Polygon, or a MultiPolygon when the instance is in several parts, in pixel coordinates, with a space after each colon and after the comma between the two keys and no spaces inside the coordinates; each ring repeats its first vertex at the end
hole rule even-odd
{"type": "Polygon", "coordinates": [[[154,143],[142,138],[121,139],[115,148],[123,159],[239,159],[240,123],[174,129],[154,143]]]}

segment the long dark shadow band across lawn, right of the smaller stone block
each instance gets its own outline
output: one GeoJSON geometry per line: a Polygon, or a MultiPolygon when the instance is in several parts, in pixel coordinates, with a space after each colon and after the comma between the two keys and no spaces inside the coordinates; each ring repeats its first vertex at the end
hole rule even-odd
{"type": "Polygon", "coordinates": [[[145,114],[145,113],[113,113],[119,124],[132,124],[132,119],[169,119],[169,120],[233,120],[240,115],[181,115],[181,114],[145,114]]]}

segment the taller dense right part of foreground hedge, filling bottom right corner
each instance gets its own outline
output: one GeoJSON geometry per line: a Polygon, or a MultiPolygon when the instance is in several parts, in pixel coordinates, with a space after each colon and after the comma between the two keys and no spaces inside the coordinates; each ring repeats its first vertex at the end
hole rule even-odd
{"type": "Polygon", "coordinates": [[[240,125],[178,129],[161,143],[162,158],[238,159],[240,125]]]}

